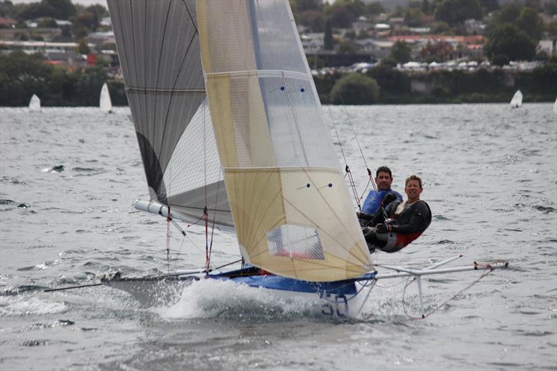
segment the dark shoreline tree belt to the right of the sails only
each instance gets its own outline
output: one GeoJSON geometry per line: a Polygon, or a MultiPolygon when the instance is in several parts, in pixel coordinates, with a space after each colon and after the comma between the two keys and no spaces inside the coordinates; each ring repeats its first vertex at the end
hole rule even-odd
{"type": "Polygon", "coordinates": [[[322,104],[510,102],[518,89],[524,102],[553,102],[557,58],[531,71],[477,68],[408,72],[380,63],[366,73],[335,72],[314,77],[314,81],[322,104]]]}

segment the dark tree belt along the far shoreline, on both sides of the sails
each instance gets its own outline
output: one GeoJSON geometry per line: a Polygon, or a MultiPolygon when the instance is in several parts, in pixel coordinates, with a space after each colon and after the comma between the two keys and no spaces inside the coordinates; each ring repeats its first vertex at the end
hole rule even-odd
{"type": "MultiPolygon", "coordinates": [[[[112,103],[127,106],[123,81],[111,79],[103,65],[68,70],[43,61],[40,54],[0,54],[0,106],[27,106],[33,94],[43,106],[98,106],[105,82],[112,103]]],[[[482,68],[404,72],[380,63],[364,74],[334,72],[314,81],[323,104],[508,102],[517,89],[525,102],[549,102],[555,100],[557,58],[529,72],[482,68]],[[425,91],[416,92],[412,88],[416,82],[425,91]]]]}

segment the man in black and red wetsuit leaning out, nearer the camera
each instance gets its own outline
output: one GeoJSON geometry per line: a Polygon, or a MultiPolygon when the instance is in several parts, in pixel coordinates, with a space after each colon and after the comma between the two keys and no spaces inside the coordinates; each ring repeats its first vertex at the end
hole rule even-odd
{"type": "Polygon", "coordinates": [[[421,236],[430,226],[431,210],[424,200],[422,180],[411,175],[406,180],[405,193],[408,199],[395,200],[383,210],[378,210],[367,226],[362,228],[370,252],[376,248],[386,253],[395,253],[421,236]]]}

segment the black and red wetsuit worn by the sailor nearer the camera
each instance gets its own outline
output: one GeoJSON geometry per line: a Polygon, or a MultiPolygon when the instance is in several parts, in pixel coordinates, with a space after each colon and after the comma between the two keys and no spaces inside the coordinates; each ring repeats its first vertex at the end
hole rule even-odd
{"type": "MultiPolygon", "coordinates": [[[[363,234],[370,251],[375,250],[375,248],[387,253],[399,251],[414,239],[420,237],[431,223],[430,206],[423,200],[417,200],[410,205],[395,200],[386,207],[385,213],[389,216],[387,221],[391,226],[389,232],[378,233],[375,228],[363,228],[363,234]]],[[[368,223],[368,226],[375,227],[377,224],[385,222],[384,214],[379,210],[368,223]]]]}

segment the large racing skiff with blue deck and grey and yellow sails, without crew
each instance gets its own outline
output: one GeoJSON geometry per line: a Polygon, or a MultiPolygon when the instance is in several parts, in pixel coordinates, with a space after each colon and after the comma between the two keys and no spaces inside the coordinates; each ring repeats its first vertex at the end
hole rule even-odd
{"type": "Polygon", "coordinates": [[[108,6],[150,195],[134,206],[233,230],[242,265],[214,267],[207,243],[205,267],[103,285],[150,306],[192,281],[230,281],[354,315],[351,299],[379,278],[414,276],[421,298],[421,276],[478,269],[375,269],[288,0],[108,6]]]}

